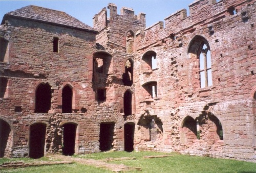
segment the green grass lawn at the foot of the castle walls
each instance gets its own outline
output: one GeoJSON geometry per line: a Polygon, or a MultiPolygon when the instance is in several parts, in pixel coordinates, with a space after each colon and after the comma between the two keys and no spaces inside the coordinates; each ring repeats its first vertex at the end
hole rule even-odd
{"type": "MultiPolygon", "coordinates": [[[[109,161],[108,163],[124,164],[130,167],[140,167],[142,171],[126,172],[256,172],[256,163],[237,160],[214,159],[209,157],[197,157],[180,155],[176,153],[157,152],[103,152],[97,154],[75,155],[73,157],[103,160],[106,158],[131,157],[136,160],[109,161]],[[143,156],[172,155],[164,158],[143,158],[143,156]]],[[[31,162],[33,159],[0,159],[0,164],[10,161],[31,162]]],[[[48,157],[36,159],[36,161],[50,161],[48,157]]],[[[56,161],[56,160],[52,160],[56,161]]],[[[51,165],[40,167],[27,167],[17,169],[0,169],[0,172],[112,172],[110,170],[82,165],[80,163],[51,165]]]]}

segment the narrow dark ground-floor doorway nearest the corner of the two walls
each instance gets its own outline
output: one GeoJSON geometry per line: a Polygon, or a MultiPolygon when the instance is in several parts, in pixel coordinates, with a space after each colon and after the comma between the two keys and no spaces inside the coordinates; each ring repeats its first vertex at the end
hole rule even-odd
{"type": "Polygon", "coordinates": [[[134,150],[134,130],[135,123],[127,122],[124,125],[124,151],[132,152],[134,150]]]}

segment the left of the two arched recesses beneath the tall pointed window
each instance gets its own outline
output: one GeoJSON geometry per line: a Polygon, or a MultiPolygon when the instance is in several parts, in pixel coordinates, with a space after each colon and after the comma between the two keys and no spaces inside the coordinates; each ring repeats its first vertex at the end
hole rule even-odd
{"type": "Polygon", "coordinates": [[[180,124],[180,142],[191,144],[197,139],[197,121],[191,116],[185,116],[180,124]]]}

